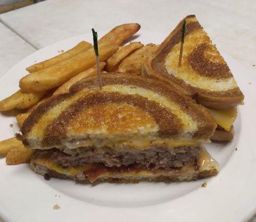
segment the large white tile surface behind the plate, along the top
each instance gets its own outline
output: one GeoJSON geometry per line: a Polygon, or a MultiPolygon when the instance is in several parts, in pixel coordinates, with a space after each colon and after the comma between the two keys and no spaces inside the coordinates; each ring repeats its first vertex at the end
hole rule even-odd
{"type": "Polygon", "coordinates": [[[92,27],[101,31],[127,22],[168,33],[184,16],[196,14],[219,49],[256,70],[252,66],[256,63],[255,9],[255,0],[48,0],[2,14],[0,19],[42,48],[88,33],[92,27]]]}

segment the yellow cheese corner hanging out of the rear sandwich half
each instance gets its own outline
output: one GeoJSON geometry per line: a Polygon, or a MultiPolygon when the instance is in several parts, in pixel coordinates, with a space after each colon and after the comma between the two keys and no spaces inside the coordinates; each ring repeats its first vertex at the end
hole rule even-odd
{"type": "Polygon", "coordinates": [[[215,110],[209,109],[215,122],[220,125],[223,129],[229,131],[230,127],[235,122],[237,118],[237,108],[225,109],[225,110],[215,110]]]}

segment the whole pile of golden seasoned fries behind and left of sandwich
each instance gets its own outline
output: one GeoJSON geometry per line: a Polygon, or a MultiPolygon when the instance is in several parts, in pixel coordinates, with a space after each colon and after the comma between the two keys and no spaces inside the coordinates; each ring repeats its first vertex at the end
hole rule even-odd
{"type": "MultiPolygon", "coordinates": [[[[122,46],[140,29],[137,23],[122,24],[112,29],[98,41],[100,69],[102,72],[129,72],[140,75],[148,57],[157,50],[155,44],[131,42],[122,46]]],[[[16,116],[19,127],[41,103],[48,98],[69,92],[74,83],[97,74],[96,58],[92,44],[82,41],[67,52],[33,64],[19,80],[19,90],[0,101],[0,111],[21,109],[16,116]]],[[[35,150],[27,149],[16,137],[0,142],[0,154],[6,155],[7,164],[29,163],[35,150]]]]}

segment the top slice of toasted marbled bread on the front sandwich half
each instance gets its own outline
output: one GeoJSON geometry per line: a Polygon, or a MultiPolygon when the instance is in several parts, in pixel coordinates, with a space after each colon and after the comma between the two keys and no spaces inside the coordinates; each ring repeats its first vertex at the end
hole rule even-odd
{"type": "Polygon", "coordinates": [[[209,142],[216,127],[206,108],[160,80],[107,73],[102,90],[92,76],[40,104],[18,138],[35,149],[209,142]]]}

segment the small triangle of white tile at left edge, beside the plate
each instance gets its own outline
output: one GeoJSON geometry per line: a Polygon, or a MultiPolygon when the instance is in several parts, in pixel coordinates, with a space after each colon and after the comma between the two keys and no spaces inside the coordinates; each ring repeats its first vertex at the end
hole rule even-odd
{"type": "Polygon", "coordinates": [[[30,44],[0,23],[0,77],[19,60],[36,51],[30,44]]]}

